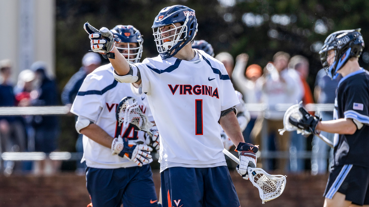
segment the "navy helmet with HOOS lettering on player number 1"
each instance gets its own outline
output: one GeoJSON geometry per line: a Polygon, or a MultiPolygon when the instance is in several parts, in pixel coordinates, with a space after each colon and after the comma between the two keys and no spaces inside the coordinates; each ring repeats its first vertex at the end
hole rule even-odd
{"type": "Polygon", "coordinates": [[[183,5],[165,7],[155,17],[151,28],[161,58],[173,57],[195,38],[197,32],[195,10],[183,5]],[[176,27],[174,24],[177,22],[181,23],[181,26],[176,27]],[[170,24],[173,25],[172,29],[164,32],[159,30],[159,27],[170,24]]]}

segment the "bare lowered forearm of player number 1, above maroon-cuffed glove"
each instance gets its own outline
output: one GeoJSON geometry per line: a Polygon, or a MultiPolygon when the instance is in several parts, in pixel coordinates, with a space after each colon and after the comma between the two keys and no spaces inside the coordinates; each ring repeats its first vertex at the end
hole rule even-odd
{"type": "Polygon", "coordinates": [[[238,143],[245,142],[235,113],[230,112],[227,115],[222,116],[219,120],[219,123],[220,126],[222,126],[225,134],[227,134],[236,147],[238,143]]]}

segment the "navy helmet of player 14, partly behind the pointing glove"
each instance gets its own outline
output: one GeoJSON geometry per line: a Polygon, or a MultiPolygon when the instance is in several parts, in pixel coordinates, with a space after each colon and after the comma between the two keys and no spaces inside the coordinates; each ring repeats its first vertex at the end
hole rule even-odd
{"type": "Polygon", "coordinates": [[[127,48],[119,48],[115,46],[118,51],[126,57],[128,63],[138,63],[142,56],[142,39],[141,33],[138,29],[134,28],[132,25],[117,25],[110,30],[113,35],[117,35],[121,42],[127,42],[127,48]],[[137,47],[130,48],[130,42],[137,43],[137,47]],[[132,58],[131,58],[132,57],[132,58]]]}

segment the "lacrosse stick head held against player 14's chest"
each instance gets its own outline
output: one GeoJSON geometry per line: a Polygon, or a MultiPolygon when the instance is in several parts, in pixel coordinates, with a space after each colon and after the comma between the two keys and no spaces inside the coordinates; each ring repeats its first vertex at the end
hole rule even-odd
{"type": "Polygon", "coordinates": [[[133,124],[142,131],[150,131],[151,127],[154,125],[149,122],[148,118],[138,105],[138,102],[133,97],[124,97],[117,107],[115,113],[117,121],[123,124],[123,127],[128,127],[128,124],[133,124]]]}

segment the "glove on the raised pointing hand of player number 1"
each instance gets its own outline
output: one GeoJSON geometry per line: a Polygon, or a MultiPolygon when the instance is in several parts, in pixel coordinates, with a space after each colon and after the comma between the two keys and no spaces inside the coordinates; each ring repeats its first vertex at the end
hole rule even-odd
{"type": "Polygon", "coordinates": [[[102,27],[99,31],[86,22],[83,28],[89,34],[92,51],[100,53],[105,59],[114,59],[114,53],[111,52],[114,48],[114,42],[121,40],[106,27],[102,27]]]}

